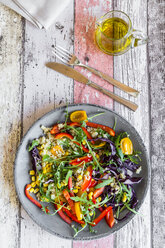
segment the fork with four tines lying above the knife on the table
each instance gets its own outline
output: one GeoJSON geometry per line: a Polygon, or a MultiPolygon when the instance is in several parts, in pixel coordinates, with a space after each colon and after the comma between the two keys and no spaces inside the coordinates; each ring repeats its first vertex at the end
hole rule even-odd
{"type": "Polygon", "coordinates": [[[116,79],[110,77],[109,75],[100,72],[97,69],[94,69],[88,65],[82,64],[80,62],[80,60],[76,57],[76,55],[70,53],[69,51],[67,51],[66,49],[64,49],[61,46],[55,46],[54,49],[52,50],[53,54],[60,59],[63,63],[67,64],[67,65],[76,65],[76,66],[81,66],[86,68],[87,70],[89,70],[90,72],[94,73],[95,75],[101,77],[102,79],[106,80],[108,83],[118,87],[119,89],[127,92],[128,94],[130,94],[131,96],[137,97],[139,94],[139,91],[117,81],[116,79]]]}

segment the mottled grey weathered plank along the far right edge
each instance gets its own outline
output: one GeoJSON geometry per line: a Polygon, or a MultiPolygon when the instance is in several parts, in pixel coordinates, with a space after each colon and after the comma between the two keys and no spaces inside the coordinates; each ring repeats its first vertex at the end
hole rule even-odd
{"type": "Polygon", "coordinates": [[[152,242],[165,247],[165,4],[148,1],[149,78],[151,89],[152,242]]]}

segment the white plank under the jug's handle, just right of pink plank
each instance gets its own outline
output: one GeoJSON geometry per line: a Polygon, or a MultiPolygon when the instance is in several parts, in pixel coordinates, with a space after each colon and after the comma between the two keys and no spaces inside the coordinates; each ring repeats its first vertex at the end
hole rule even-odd
{"type": "MultiPolygon", "coordinates": [[[[127,13],[134,28],[147,33],[147,1],[114,1],[114,8],[127,13]]],[[[149,152],[149,89],[147,68],[147,47],[141,46],[130,50],[124,55],[114,58],[114,78],[140,91],[138,99],[115,89],[125,98],[135,101],[139,108],[135,113],[115,103],[115,110],[125,117],[139,132],[149,152]]],[[[151,247],[151,205],[150,190],[146,196],[140,213],[127,226],[116,233],[115,247],[151,247]]]]}

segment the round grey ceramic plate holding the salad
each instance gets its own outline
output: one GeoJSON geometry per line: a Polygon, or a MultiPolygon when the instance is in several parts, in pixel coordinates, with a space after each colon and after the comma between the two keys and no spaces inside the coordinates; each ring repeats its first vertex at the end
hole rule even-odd
{"type": "MultiPolygon", "coordinates": [[[[31,158],[27,148],[28,144],[34,138],[38,138],[43,135],[42,130],[40,128],[41,125],[51,127],[57,121],[63,122],[65,120],[65,110],[66,107],[58,108],[41,117],[33,124],[33,126],[28,130],[28,132],[22,139],[22,142],[19,146],[15,159],[14,176],[15,176],[16,191],[21,204],[23,205],[24,209],[29,214],[29,216],[39,226],[41,226],[48,232],[62,238],[76,239],[76,240],[90,240],[90,239],[105,237],[119,230],[124,225],[126,225],[133,218],[134,214],[131,214],[127,220],[117,223],[112,229],[108,227],[105,220],[102,220],[95,227],[95,229],[97,230],[96,234],[90,233],[87,228],[86,230],[83,230],[81,233],[79,233],[77,237],[73,238],[74,231],[67,223],[65,223],[58,215],[49,216],[44,214],[44,212],[41,211],[33,203],[31,203],[24,194],[25,185],[30,182],[30,177],[28,172],[31,169],[31,158]]],[[[119,132],[127,131],[130,134],[130,138],[133,142],[135,150],[139,150],[142,152],[141,154],[142,171],[139,176],[142,176],[143,180],[140,184],[136,185],[135,187],[137,198],[139,200],[139,203],[136,207],[136,210],[138,210],[145,198],[150,179],[150,170],[147,159],[147,153],[141,137],[139,136],[135,128],[131,126],[130,123],[128,123],[124,118],[114,113],[113,111],[110,111],[109,109],[90,104],[70,105],[68,107],[69,113],[75,110],[85,110],[88,114],[88,117],[93,116],[99,112],[104,112],[104,115],[94,118],[93,121],[110,127],[113,126],[116,117],[117,118],[116,132],[119,133],[119,132]]]]}

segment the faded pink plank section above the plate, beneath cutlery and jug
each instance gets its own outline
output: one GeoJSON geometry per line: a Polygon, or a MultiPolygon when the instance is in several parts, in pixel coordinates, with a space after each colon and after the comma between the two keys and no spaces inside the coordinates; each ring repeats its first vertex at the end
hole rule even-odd
{"type": "MultiPolygon", "coordinates": [[[[95,21],[107,11],[111,10],[111,1],[102,0],[76,0],[75,1],[75,54],[88,65],[93,66],[113,76],[113,57],[101,52],[94,43],[95,21]]],[[[97,76],[91,75],[83,68],[76,68],[97,84],[113,91],[113,86],[97,76]]],[[[74,86],[75,103],[95,103],[113,108],[113,101],[89,86],[75,82],[74,86]]]]}

